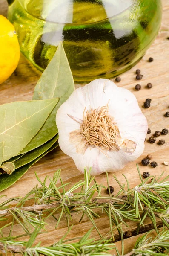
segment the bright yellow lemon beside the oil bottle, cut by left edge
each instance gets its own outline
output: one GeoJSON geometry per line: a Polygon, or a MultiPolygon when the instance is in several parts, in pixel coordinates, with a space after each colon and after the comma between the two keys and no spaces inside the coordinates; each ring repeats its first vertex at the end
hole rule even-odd
{"type": "Polygon", "coordinates": [[[0,84],[14,72],[20,59],[20,47],[14,26],[0,15],[0,84]]]}

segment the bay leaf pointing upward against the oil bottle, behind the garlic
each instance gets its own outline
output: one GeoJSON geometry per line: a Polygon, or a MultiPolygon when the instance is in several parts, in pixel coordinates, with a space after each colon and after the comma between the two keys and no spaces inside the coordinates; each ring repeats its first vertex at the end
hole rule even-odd
{"type": "Polygon", "coordinates": [[[74,81],[72,72],[63,45],[60,43],[54,57],[44,70],[40,80],[37,82],[33,96],[34,100],[53,99],[58,97],[59,102],[50,113],[43,127],[20,154],[43,145],[58,133],[55,122],[57,110],[60,105],[69,98],[73,91],[74,81]]]}

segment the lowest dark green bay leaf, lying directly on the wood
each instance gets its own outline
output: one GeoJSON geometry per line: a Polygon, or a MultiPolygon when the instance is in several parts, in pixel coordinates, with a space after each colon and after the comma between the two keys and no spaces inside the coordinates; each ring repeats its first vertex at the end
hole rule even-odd
{"type": "Polygon", "coordinates": [[[47,153],[52,151],[54,148],[57,148],[58,143],[54,143],[49,150],[47,150],[44,154],[37,157],[32,162],[26,164],[15,170],[11,175],[3,174],[0,175],[0,192],[12,186],[17,180],[19,180],[37,161],[39,161],[42,157],[44,157],[47,153]]]}

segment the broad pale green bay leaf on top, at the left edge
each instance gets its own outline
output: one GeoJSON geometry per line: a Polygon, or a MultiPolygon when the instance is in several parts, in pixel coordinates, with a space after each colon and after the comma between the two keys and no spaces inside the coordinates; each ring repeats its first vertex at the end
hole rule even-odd
{"type": "Polygon", "coordinates": [[[57,102],[58,99],[47,99],[11,102],[0,106],[0,142],[4,142],[3,162],[25,148],[43,126],[57,102]]]}

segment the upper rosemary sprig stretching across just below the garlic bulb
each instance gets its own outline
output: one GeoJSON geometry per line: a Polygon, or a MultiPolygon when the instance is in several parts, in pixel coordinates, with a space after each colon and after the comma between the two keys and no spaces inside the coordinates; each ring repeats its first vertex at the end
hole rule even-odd
{"type": "MultiPolygon", "coordinates": [[[[24,198],[11,198],[0,204],[0,216],[3,216],[0,220],[5,221],[9,215],[12,215],[23,230],[30,233],[32,226],[36,227],[42,221],[45,223],[46,218],[51,215],[57,222],[56,228],[63,215],[66,215],[69,227],[69,223],[72,221],[71,215],[74,212],[81,213],[80,221],[86,215],[95,225],[95,219],[100,217],[96,211],[100,208],[108,215],[111,230],[120,223],[128,227],[127,220],[137,221],[139,226],[143,226],[146,217],[151,219],[157,233],[156,217],[160,218],[162,223],[169,228],[169,177],[161,181],[154,178],[151,183],[148,183],[149,179],[146,179],[133,189],[129,188],[128,181],[127,188],[125,188],[115,177],[120,190],[113,197],[112,195],[101,195],[105,187],[98,184],[95,177],[90,176],[86,169],[84,176],[84,181],[80,181],[66,190],[69,183],[63,184],[60,170],[54,174],[53,178],[49,177],[49,186],[46,186],[48,177],[42,182],[36,175],[41,186],[36,186],[24,198]],[[58,180],[61,181],[60,186],[56,185],[58,180]],[[80,192],[77,192],[77,189],[80,192]],[[14,207],[11,207],[12,202],[16,204],[14,207]],[[27,204],[29,206],[26,206],[27,204]],[[56,218],[56,214],[59,217],[56,218]]],[[[96,226],[95,229],[101,237],[96,226]]],[[[123,227],[120,226],[117,230],[123,241],[123,227]]],[[[0,233],[3,236],[2,228],[0,228],[0,233]]],[[[111,233],[114,240],[114,234],[111,233]]]]}

